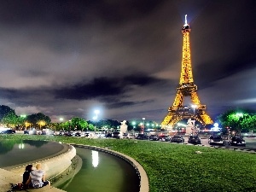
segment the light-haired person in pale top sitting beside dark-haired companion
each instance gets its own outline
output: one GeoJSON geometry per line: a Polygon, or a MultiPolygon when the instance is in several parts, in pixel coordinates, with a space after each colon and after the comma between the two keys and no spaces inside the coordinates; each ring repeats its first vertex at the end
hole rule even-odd
{"type": "Polygon", "coordinates": [[[40,163],[36,165],[36,170],[30,172],[26,184],[29,184],[32,188],[42,188],[46,185],[50,185],[50,182],[45,180],[45,172],[42,170],[40,163]]]}

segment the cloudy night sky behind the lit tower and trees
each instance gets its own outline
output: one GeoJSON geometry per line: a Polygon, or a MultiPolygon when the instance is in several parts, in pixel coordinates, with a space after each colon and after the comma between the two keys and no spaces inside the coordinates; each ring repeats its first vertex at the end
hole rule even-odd
{"type": "MultiPolygon", "coordinates": [[[[52,121],[161,122],[188,15],[195,84],[212,119],[256,110],[254,0],[1,1],[0,104],[52,121]]],[[[191,104],[186,98],[186,105],[191,104]]]]}

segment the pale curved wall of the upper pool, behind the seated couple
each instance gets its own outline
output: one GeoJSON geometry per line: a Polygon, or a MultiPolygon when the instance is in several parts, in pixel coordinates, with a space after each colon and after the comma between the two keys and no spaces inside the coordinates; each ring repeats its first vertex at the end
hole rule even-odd
{"type": "MultiPolygon", "coordinates": [[[[28,162],[26,163],[26,165],[32,164],[33,166],[36,166],[37,163],[41,163],[44,171],[46,172],[46,177],[55,177],[61,172],[64,172],[71,165],[71,160],[76,155],[76,149],[73,146],[68,144],[62,145],[64,146],[64,148],[66,148],[66,152],[64,152],[63,154],[59,154],[44,160],[28,162]]],[[[8,170],[22,176],[23,172],[25,171],[26,165],[12,167],[8,170]]],[[[5,167],[3,167],[3,169],[5,169],[5,167]]]]}

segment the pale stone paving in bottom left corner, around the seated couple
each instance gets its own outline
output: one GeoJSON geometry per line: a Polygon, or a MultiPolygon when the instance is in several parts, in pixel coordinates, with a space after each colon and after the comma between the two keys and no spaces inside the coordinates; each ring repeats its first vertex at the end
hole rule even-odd
{"type": "MultiPolygon", "coordinates": [[[[15,174],[14,172],[9,172],[4,169],[0,169],[0,192],[7,192],[11,189],[10,183],[21,183],[22,177],[15,174]]],[[[23,191],[29,192],[65,192],[64,190],[57,189],[51,186],[45,186],[40,189],[26,189],[23,191]]]]}

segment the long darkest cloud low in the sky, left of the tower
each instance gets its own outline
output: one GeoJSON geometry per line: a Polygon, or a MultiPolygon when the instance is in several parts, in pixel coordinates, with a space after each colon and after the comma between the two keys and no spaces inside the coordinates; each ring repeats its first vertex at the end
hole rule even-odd
{"type": "MultiPolygon", "coordinates": [[[[137,74],[124,77],[123,79],[114,78],[96,78],[88,83],[66,85],[55,90],[55,98],[73,99],[73,100],[88,100],[92,98],[102,98],[108,96],[122,97],[125,92],[131,89],[132,85],[150,86],[161,82],[161,79],[148,77],[146,74],[137,74]]],[[[126,102],[125,102],[126,103],[126,102]]],[[[129,102],[127,102],[129,103],[129,102]]]]}

